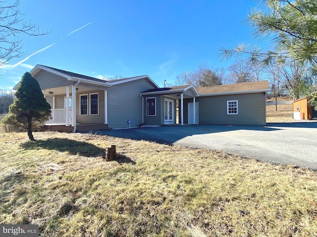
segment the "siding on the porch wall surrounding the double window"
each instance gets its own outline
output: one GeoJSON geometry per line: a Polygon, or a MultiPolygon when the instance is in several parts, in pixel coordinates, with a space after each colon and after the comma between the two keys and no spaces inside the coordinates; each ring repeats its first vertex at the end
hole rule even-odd
{"type": "MultiPolygon", "coordinates": [[[[56,101],[55,101],[56,103],[56,101]]],[[[105,91],[91,90],[76,93],[76,122],[77,123],[105,123],[105,91]],[[98,115],[90,115],[90,94],[98,93],[98,115]],[[80,95],[88,95],[88,115],[80,115],[80,95]]]]}

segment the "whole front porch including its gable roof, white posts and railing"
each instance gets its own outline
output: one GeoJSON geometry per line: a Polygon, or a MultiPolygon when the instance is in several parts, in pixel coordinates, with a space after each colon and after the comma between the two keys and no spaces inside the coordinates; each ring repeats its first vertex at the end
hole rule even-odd
{"type": "Polygon", "coordinates": [[[73,132],[96,124],[107,127],[107,88],[111,86],[107,81],[43,65],[30,73],[51,105],[51,118],[45,127],[73,132]]]}

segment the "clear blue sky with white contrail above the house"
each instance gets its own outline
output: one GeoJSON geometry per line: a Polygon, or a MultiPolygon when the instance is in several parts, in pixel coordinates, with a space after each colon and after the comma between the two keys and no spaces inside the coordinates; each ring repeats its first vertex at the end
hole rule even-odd
{"type": "Polygon", "coordinates": [[[25,55],[1,68],[0,89],[12,88],[36,64],[95,78],[147,74],[160,86],[201,64],[226,68],[231,62],[221,61],[220,48],[259,44],[242,24],[257,6],[254,0],[21,0],[21,17],[52,32],[19,35],[25,55]]]}

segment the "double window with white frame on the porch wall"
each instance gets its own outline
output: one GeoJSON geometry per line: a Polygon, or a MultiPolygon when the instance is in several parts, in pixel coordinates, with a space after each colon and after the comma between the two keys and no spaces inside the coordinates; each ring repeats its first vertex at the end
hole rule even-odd
{"type": "Polygon", "coordinates": [[[99,114],[99,94],[80,95],[80,115],[98,115],[99,114]],[[89,100],[88,100],[89,99],[89,100]],[[88,103],[89,102],[89,103],[88,103]]]}

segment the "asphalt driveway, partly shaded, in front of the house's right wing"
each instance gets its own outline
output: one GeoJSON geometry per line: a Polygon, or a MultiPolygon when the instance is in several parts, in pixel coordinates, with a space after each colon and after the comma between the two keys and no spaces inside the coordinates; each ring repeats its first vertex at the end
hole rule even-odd
{"type": "Polygon", "coordinates": [[[134,140],[224,150],[274,164],[317,170],[317,122],[261,126],[191,125],[97,131],[134,140]]]}

